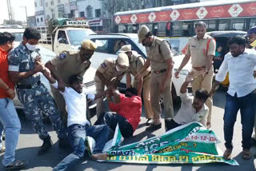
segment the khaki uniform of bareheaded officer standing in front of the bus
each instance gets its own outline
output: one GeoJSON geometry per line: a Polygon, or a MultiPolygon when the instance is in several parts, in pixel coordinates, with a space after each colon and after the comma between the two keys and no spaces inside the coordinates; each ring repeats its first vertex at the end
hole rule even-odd
{"type": "MultiPolygon", "coordinates": [[[[214,67],[211,66],[209,73],[202,77],[202,72],[206,68],[208,55],[215,55],[216,42],[214,38],[205,34],[201,39],[198,39],[197,36],[190,38],[186,55],[191,57],[192,71],[194,72],[194,82],[191,82],[193,93],[197,89],[206,89],[210,92],[212,88],[213,76],[214,76],[214,67]],[[208,50],[207,44],[209,42],[208,50]]],[[[207,122],[210,122],[211,118],[211,109],[213,105],[212,98],[209,97],[206,101],[206,105],[209,108],[209,114],[207,117],[207,122]]]]}

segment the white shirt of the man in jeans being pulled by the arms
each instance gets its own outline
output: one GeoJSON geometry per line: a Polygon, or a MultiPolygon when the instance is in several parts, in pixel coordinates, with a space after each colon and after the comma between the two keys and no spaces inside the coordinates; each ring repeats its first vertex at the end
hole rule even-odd
{"type": "MultiPolygon", "coordinates": [[[[58,82],[52,84],[54,88],[58,89],[58,82]]],[[[82,93],[76,92],[70,87],[65,87],[64,92],[60,91],[66,101],[67,108],[67,126],[79,124],[86,125],[90,122],[86,118],[86,88],[82,89],[82,93]]],[[[94,99],[94,94],[88,94],[90,99],[94,99]]]]}

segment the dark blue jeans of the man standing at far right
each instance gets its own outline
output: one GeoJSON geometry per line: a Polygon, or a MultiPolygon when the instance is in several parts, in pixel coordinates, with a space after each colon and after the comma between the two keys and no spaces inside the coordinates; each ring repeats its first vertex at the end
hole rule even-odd
{"type": "Polygon", "coordinates": [[[226,149],[233,149],[232,139],[234,122],[237,119],[238,110],[241,113],[242,123],[242,147],[250,149],[250,137],[254,128],[256,94],[249,93],[244,97],[234,97],[226,94],[226,106],[224,113],[224,138],[226,149]]]}

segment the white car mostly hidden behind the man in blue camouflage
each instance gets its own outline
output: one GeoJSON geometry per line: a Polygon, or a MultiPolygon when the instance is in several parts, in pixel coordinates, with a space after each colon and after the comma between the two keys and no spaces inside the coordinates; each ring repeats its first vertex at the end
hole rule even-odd
{"type": "MultiPolygon", "coordinates": [[[[0,32],[9,32],[11,34],[14,34],[15,35],[14,46],[17,47],[22,42],[24,29],[0,29],[0,32]]],[[[43,63],[46,63],[50,59],[56,57],[56,54],[53,51],[47,50],[42,46],[38,46],[38,49],[39,49],[39,54],[41,54],[43,63]]],[[[90,69],[86,71],[86,74],[83,77],[84,85],[86,86],[87,89],[89,89],[91,93],[96,93],[96,86],[94,84],[95,72],[96,70],[90,67],[90,69]]],[[[41,82],[44,85],[46,85],[46,88],[49,90],[50,94],[52,95],[51,89],[50,89],[50,83],[42,74],[41,74],[41,82]]],[[[16,109],[23,109],[23,105],[21,104],[20,101],[18,101],[17,96],[14,98],[14,105],[16,109]]],[[[88,105],[89,105],[89,108],[92,109],[96,106],[96,101],[89,101],[88,105]]]]}

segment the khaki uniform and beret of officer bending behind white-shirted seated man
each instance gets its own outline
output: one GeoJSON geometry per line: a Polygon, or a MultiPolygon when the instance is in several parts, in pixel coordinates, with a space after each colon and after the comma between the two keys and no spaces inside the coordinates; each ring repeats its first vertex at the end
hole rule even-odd
{"type": "MultiPolygon", "coordinates": [[[[94,42],[89,40],[82,42],[81,46],[86,50],[96,50],[97,48],[94,42]]],[[[50,62],[53,66],[55,66],[54,74],[57,74],[60,78],[62,78],[66,85],[69,84],[69,78],[71,75],[78,74],[83,78],[86,70],[88,70],[90,67],[90,61],[82,62],[79,50],[63,51],[50,62]]],[[[51,91],[54,95],[54,100],[56,101],[58,110],[61,112],[62,120],[66,121],[66,102],[58,89],[51,86],[51,91]]]]}

